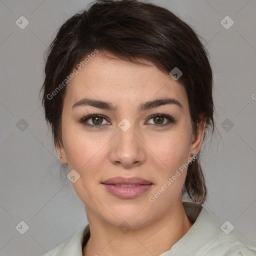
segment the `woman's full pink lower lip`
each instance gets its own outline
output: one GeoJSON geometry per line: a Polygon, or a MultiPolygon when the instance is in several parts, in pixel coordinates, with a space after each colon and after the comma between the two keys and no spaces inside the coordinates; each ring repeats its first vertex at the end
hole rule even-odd
{"type": "Polygon", "coordinates": [[[144,193],[145,191],[149,190],[152,186],[152,184],[148,185],[136,185],[136,186],[130,186],[130,187],[123,187],[123,186],[117,186],[114,184],[104,184],[104,187],[113,195],[116,195],[121,198],[135,198],[138,195],[144,193]]]}

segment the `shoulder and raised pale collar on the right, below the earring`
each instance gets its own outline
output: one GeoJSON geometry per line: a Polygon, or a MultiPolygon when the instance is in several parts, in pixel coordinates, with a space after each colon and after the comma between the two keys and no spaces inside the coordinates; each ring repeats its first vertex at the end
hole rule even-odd
{"type": "Polygon", "coordinates": [[[256,240],[235,232],[230,222],[221,225],[202,205],[191,202],[183,205],[189,219],[195,221],[172,246],[169,255],[256,256],[256,240]]]}

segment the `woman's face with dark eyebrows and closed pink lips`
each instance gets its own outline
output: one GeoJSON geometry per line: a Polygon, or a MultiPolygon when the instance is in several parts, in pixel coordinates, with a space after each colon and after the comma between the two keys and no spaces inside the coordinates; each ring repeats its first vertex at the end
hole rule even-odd
{"type": "Polygon", "coordinates": [[[154,65],[108,59],[99,52],[66,89],[63,147],[56,150],[72,170],[72,186],[88,218],[93,214],[116,226],[125,220],[135,228],[173,212],[182,199],[184,164],[200,149],[204,129],[202,124],[192,137],[184,87],[154,65]],[[77,103],[85,98],[106,103],[77,103]],[[161,99],[165,102],[155,101],[161,99]],[[114,177],[146,181],[135,178],[136,186],[130,187],[103,184],[114,177]]]}

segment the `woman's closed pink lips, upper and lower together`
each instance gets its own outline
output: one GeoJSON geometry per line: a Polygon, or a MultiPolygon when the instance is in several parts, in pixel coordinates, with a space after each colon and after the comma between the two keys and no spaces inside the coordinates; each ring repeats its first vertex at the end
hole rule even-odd
{"type": "Polygon", "coordinates": [[[137,197],[138,195],[148,191],[153,185],[150,181],[140,177],[114,177],[107,179],[101,183],[111,194],[119,198],[126,199],[137,197]],[[135,186],[122,187],[118,186],[117,184],[135,184],[135,186]]]}

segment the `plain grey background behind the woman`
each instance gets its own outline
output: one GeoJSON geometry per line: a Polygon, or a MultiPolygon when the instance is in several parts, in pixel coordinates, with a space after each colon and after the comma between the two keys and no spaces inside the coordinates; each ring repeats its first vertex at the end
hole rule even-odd
{"type": "MultiPolygon", "coordinates": [[[[60,181],[38,91],[43,52],[89,2],[0,0],[0,255],[41,255],[87,223],[71,183],[60,181]],[[15,24],[21,15],[29,21],[24,29],[15,24]],[[21,220],[29,226],[24,234],[15,228],[21,220]]],[[[256,239],[256,1],[151,2],[189,23],[210,54],[217,130],[201,150],[209,192],[203,205],[219,225],[228,220],[256,239]],[[226,15],[234,21],[229,29],[220,23],[226,15]]]]}

